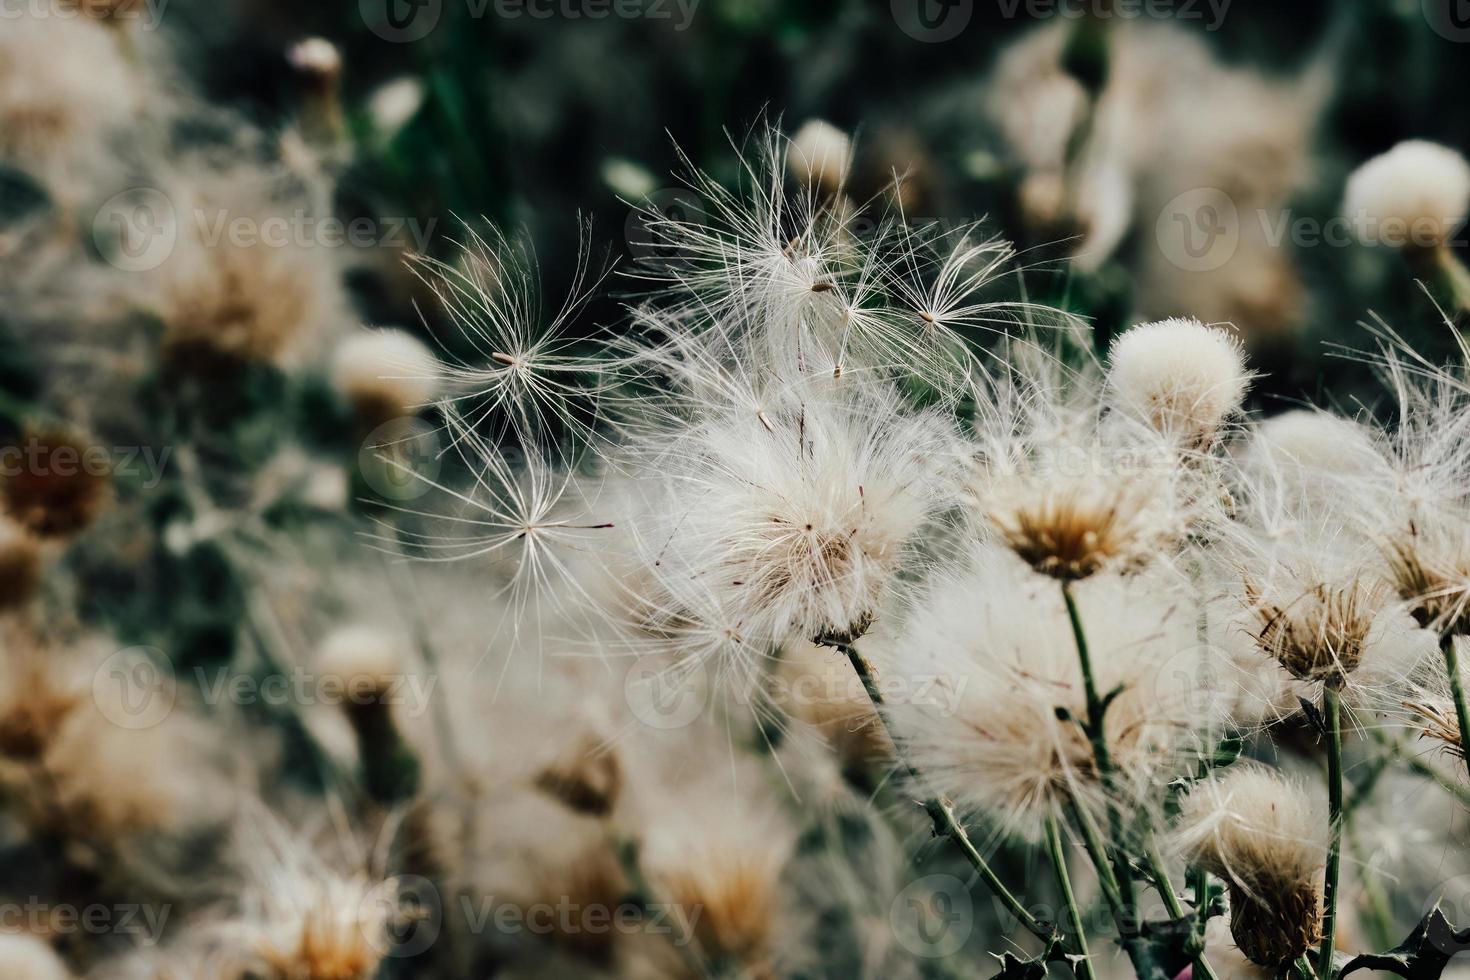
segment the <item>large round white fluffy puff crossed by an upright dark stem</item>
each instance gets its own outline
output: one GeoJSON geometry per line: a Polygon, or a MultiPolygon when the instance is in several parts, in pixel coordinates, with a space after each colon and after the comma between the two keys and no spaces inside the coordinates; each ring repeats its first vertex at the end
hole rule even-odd
{"type": "MultiPolygon", "coordinates": [[[[1214,743],[1225,701],[1195,620],[1167,574],[1073,586],[1100,691],[1120,689],[1104,730],[1123,805],[1214,743]]],[[[998,548],[936,583],[908,616],[901,660],[881,664],[914,696],[894,735],[933,789],[1005,832],[1039,840],[1072,801],[1102,815],[1076,641],[1060,588],[998,548]]],[[[879,651],[879,655],[881,651],[879,651]]]]}

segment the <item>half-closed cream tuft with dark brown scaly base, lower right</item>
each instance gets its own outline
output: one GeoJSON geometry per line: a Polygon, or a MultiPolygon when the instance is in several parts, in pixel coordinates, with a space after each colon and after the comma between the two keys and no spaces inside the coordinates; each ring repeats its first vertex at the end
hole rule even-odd
{"type": "Polygon", "coordinates": [[[1323,808],[1264,765],[1238,763],[1185,796],[1179,846],[1229,884],[1230,933],[1252,962],[1277,967],[1317,943],[1326,830],[1323,808]]]}

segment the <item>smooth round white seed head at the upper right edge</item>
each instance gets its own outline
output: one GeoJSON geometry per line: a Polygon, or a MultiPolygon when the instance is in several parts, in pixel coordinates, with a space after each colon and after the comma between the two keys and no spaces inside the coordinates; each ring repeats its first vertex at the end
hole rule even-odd
{"type": "Polygon", "coordinates": [[[1405,140],[1363,163],[1344,194],[1342,212],[1364,244],[1432,248],[1466,219],[1470,163],[1438,143],[1405,140]]]}

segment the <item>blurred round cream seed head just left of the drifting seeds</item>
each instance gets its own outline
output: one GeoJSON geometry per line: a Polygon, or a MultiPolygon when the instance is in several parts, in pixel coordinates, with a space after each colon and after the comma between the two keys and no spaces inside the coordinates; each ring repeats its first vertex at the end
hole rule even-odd
{"type": "Polygon", "coordinates": [[[404,331],[365,331],[337,345],[332,386],[372,419],[395,419],[440,391],[440,360],[404,331]]]}

